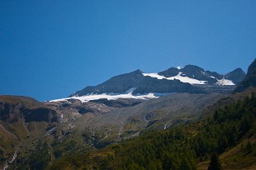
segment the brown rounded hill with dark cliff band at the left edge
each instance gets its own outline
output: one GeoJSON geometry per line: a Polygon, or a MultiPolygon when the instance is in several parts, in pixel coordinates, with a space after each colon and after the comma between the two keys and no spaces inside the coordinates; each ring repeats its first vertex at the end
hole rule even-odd
{"type": "Polygon", "coordinates": [[[10,158],[15,159],[19,148],[44,136],[58,121],[58,112],[31,97],[0,96],[0,167],[13,163],[10,158]]]}

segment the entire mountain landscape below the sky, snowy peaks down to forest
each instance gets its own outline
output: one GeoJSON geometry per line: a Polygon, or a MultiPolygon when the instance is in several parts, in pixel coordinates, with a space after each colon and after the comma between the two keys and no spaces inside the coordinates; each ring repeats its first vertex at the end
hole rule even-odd
{"type": "Polygon", "coordinates": [[[0,167],[206,169],[218,153],[225,169],[253,169],[255,62],[247,75],[137,70],[47,102],[1,96],[0,167]]]}

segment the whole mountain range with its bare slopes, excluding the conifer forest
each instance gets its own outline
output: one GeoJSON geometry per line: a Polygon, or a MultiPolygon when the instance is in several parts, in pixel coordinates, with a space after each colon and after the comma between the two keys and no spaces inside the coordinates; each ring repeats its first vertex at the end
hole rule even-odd
{"type": "MultiPolygon", "coordinates": [[[[88,165],[92,163],[95,166],[89,167],[97,169],[105,163],[109,154],[114,154],[111,148],[107,156],[101,155],[105,154],[104,149],[108,149],[107,146],[111,147],[114,143],[116,148],[114,146],[113,149],[117,152],[118,148],[128,146],[128,143],[134,143],[136,140],[141,141],[138,143],[144,143],[143,138],[154,141],[151,134],[159,136],[180,127],[188,127],[187,133],[190,133],[190,136],[187,141],[197,138],[197,131],[206,127],[202,124],[207,122],[215,126],[218,123],[210,120],[216,110],[233,110],[233,102],[243,98],[247,102],[250,100],[246,97],[249,98],[251,92],[256,92],[255,79],[256,60],[248,67],[247,74],[237,68],[222,75],[192,65],[171,67],[158,73],[136,70],[112,77],[95,87],[85,87],[70,97],[49,102],[38,102],[31,97],[0,96],[0,167],[45,169],[50,163],[55,163],[56,159],[62,160],[68,155],[77,155],[83,151],[90,155],[88,165]],[[146,137],[147,134],[150,136],[146,137]],[[124,140],[128,142],[122,142],[124,140]],[[100,150],[101,148],[103,150],[100,150]],[[97,153],[98,151],[100,153],[97,153]],[[97,160],[104,161],[98,163],[97,160]]],[[[253,98],[251,100],[254,101],[253,98]]],[[[251,106],[253,105],[250,104],[251,106]]],[[[246,108],[239,109],[247,112],[246,108]]],[[[252,115],[250,117],[248,120],[254,119],[252,115]]],[[[245,118],[239,121],[247,121],[245,118]]],[[[238,143],[254,140],[253,136],[247,134],[239,133],[239,138],[236,138],[238,143]]],[[[177,145],[178,142],[175,143],[177,145]]],[[[236,147],[238,143],[233,144],[231,148],[236,147]]],[[[215,145],[216,143],[213,143],[209,148],[216,147],[215,145]]],[[[224,154],[223,152],[221,150],[220,154],[224,154]]],[[[244,158],[250,158],[250,163],[253,163],[248,163],[245,167],[256,165],[256,159],[252,158],[251,153],[244,158]]],[[[110,159],[116,163],[115,158],[110,159]]],[[[205,155],[197,155],[197,159],[198,163],[208,160],[205,155]]],[[[79,158],[69,160],[79,162],[79,158]]],[[[65,163],[69,161],[61,162],[61,165],[65,163]]],[[[84,160],[79,163],[84,163],[84,160]]],[[[234,168],[233,165],[228,166],[234,168]]],[[[110,167],[120,169],[118,166],[110,167]]],[[[71,169],[78,168],[74,166],[71,169]]],[[[59,169],[59,166],[56,169],[59,169]]]]}

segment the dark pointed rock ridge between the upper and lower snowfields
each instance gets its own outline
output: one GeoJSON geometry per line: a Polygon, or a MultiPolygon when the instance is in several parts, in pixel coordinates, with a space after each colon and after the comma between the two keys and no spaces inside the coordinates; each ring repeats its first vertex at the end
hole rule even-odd
{"type": "Polygon", "coordinates": [[[72,96],[84,96],[88,94],[102,93],[125,93],[134,89],[132,94],[145,94],[150,92],[171,93],[171,92],[195,92],[202,90],[193,87],[189,83],[183,83],[179,80],[169,81],[167,79],[157,79],[143,75],[141,70],[121,74],[110,78],[110,80],[101,83],[95,87],[85,87],[81,91],[74,92],[72,96]]]}

